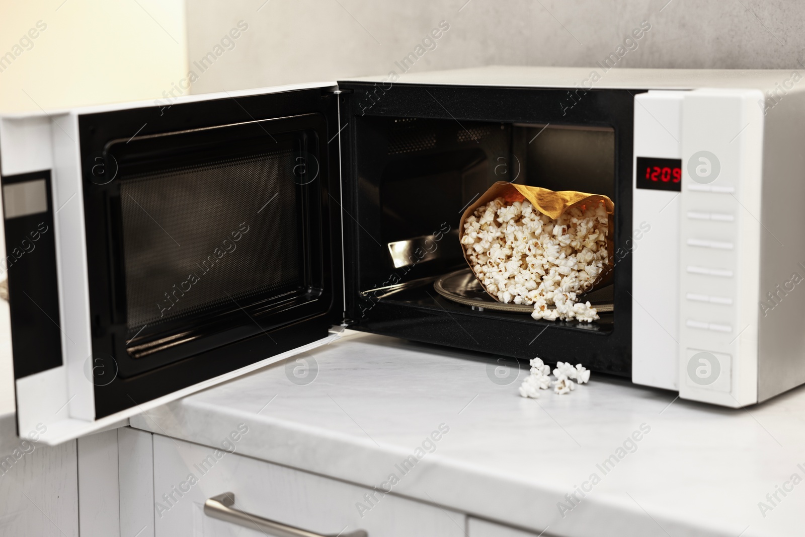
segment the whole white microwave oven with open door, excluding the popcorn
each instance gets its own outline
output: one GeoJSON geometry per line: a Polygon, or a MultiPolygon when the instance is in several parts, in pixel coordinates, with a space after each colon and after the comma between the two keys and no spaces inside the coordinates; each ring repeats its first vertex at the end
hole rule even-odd
{"type": "Polygon", "coordinates": [[[19,432],[58,443],[342,327],[743,407],[805,382],[798,72],[489,67],[0,120],[19,432]],[[592,323],[445,299],[497,181],[614,202],[592,323]]]}

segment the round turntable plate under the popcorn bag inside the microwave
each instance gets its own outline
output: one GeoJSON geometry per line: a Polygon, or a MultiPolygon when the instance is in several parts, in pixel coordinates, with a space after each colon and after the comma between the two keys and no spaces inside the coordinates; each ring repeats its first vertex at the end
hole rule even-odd
{"type": "MultiPolygon", "coordinates": [[[[444,296],[444,298],[464,304],[464,306],[471,306],[473,309],[492,309],[501,312],[520,312],[531,313],[534,311],[534,306],[526,306],[525,304],[503,304],[493,299],[489,293],[484,291],[481,287],[481,282],[473,275],[473,271],[467,268],[460,271],[450,272],[433,283],[433,288],[437,293],[444,296]]],[[[581,295],[580,301],[587,302],[596,308],[599,313],[613,312],[615,309],[613,304],[614,289],[613,285],[601,287],[581,295]]],[[[554,309],[554,306],[548,306],[554,309]]]]}

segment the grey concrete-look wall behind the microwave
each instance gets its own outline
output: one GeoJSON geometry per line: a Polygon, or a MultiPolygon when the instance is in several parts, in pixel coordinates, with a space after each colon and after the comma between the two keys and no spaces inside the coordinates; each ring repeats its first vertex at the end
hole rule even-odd
{"type": "Polygon", "coordinates": [[[449,31],[411,69],[592,65],[617,53],[643,21],[650,31],[627,43],[633,50],[618,66],[803,68],[805,4],[794,0],[264,2],[188,0],[193,93],[401,74],[394,62],[415,52],[442,20],[449,31]],[[240,20],[249,27],[225,43],[233,48],[216,49],[240,20]],[[220,56],[202,72],[193,61],[208,52],[220,56]]]}

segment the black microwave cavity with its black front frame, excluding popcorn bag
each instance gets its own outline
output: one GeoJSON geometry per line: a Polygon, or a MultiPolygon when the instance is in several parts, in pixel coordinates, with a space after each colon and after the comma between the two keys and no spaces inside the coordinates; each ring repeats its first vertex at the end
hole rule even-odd
{"type": "Polygon", "coordinates": [[[634,97],[577,93],[568,109],[566,90],[347,88],[353,93],[342,98],[353,129],[342,164],[353,211],[344,243],[351,327],[485,357],[584,361],[628,376],[631,260],[623,246],[631,229],[634,97]],[[611,300],[611,312],[592,323],[534,320],[528,312],[473,308],[435,291],[445,275],[471,274],[459,243],[460,216],[497,181],[613,200],[613,283],[595,291],[611,300]]]}

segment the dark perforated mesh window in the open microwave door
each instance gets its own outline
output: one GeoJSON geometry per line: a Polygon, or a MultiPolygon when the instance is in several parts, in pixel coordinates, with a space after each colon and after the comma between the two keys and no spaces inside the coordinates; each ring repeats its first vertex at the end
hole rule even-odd
{"type": "Polygon", "coordinates": [[[293,155],[122,180],[130,331],[303,285],[293,155]]]}

